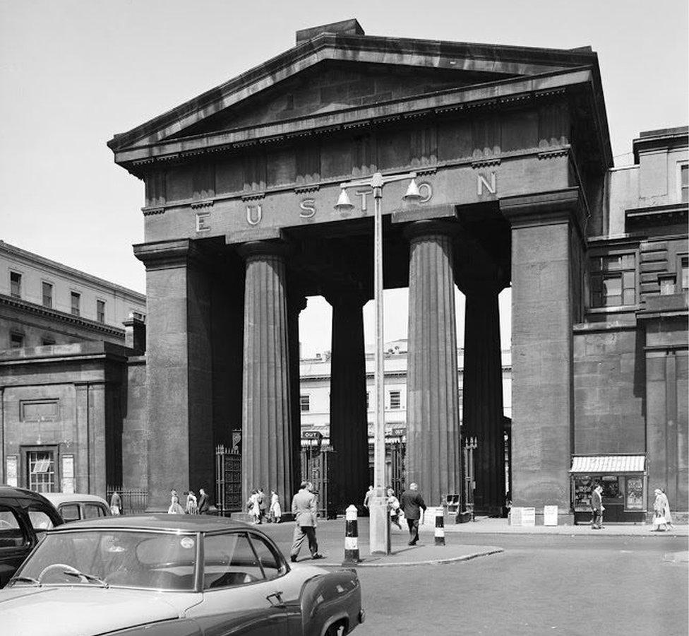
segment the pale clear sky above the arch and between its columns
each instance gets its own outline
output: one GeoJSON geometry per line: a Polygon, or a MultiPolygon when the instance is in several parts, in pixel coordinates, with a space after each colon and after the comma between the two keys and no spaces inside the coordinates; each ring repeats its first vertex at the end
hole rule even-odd
{"type": "MultiPolygon", "coordinates": [[[[0,0],[0,239],[145,292],[143,183],[106,142],[294,46],[296,30],[357,18],[368,35],[569,49],[599,57],[616,165],[642,130],[689,120],[686,0],[0,0]]],[[[407,336],[407,292],[385,294],[385,339],[407,336]]],[[[365,308],[373,338],[373,303],[365,308]]],[[[510,291],[501,295],[503,346],[510,291]]],[[[301,314],[330,348],[329,309],[301,314]],[[328,324],[328,329],[323,328],[328,324]]],[[[463,342],[463,298],[457,293],[463,342]]],[[[302,338],[304,339],[304,338],[302,338]]]]}

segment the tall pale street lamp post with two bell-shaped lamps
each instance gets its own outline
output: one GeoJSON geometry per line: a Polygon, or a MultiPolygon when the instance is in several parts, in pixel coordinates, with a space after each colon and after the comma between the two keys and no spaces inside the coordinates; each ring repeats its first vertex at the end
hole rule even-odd
{"type": "Polygon", "coordinates": [[[341,212],[351,211],[354,206],[347,196],[347,188],[373,188],[373,299],[376,304],[376,352],[373,383],[375,386],[375,417],[373,420],[373,496],[369,498],[369,550],[371,554],[390,554],[390,518],[388,501],[385,496],[385,384],[383,351],[383,213],[381,203],[383,186],[393,181],[411,179],[406,201],[419,201],[421,194],[417,187],[416,172],[405,172],[397,175],[385,175],[375,172],[367,179],[357,179],[340,184],[342,192],[337,199],[335,209],[341,212]]]}

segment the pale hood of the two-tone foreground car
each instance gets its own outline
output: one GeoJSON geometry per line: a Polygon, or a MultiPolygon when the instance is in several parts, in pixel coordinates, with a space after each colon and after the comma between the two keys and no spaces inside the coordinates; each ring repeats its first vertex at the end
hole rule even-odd
{"type": "Polygon", "coordinates": [[[179,618],[196,603],[195,596],[112,587],[5,588],[0,590],[0,631],[17,636],[102,634],[179,618]]]}

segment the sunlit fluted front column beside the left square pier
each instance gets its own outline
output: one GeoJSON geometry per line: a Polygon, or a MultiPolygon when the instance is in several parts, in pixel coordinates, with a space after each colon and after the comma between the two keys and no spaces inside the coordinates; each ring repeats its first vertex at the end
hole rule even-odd
{"type": "Polygon", "coordinates": [[[284,507],[292,502],[292,428],[284,245],[250,242],[244,290],[242,486],[274,488],[284,507]]]}

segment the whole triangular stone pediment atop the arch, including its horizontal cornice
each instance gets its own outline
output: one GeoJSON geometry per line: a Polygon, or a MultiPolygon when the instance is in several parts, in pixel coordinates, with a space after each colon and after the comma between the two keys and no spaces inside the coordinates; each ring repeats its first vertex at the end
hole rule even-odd
{"type": "Polygon", "coordinates": [[[131,166],[568,82],[599,83],[590,49],[318,33],[108,145],[131,166]]]}

